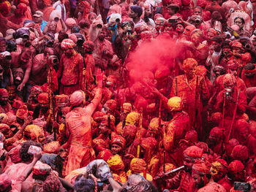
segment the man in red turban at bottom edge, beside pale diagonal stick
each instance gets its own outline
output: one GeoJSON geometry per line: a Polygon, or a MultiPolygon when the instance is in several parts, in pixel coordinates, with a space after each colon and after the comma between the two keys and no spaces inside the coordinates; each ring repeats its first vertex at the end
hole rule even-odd
{"type": "MultiPolygon", "coordinates": [[[[192,166],[195,161],[200,160],[203,150],[193,145],[184,150],[184,170],[178,172],[173,178],[157,180],[158,185],[164,185],[168,189],[177,189],[180,192],[194,191],[195,185],[192,178],[192,166]]],[[[160,177],[163,173],[160,173],[160,177]]]]}

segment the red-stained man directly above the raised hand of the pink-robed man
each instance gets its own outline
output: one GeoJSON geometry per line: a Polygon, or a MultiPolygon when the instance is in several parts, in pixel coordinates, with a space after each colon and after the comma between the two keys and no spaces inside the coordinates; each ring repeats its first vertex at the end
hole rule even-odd
{"type": "Polygon", "coordinates": [[[108,28],[103,27],[100,31],[98,38],[95,40],[94,45],[94,59],[97,68],[102,70],[107,69],[108,64],[113,58],[113,49],[111,43],[105,39],[108,28]]]}

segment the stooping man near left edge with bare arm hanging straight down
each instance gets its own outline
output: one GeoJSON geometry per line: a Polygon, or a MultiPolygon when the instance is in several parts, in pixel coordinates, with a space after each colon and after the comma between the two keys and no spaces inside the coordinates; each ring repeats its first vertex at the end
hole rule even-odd
{"type": "Polygon", "coordinates": [[[18,85],[17,90],[22,91],[23,87],[26,85],[26,82],[29,80],[29,75],[31,72],[31,50],[28,47],[23,48],[21,53],[12,53],[12,64],[11,68],[21,67],[25,72],[23,81],[18,85]]]}

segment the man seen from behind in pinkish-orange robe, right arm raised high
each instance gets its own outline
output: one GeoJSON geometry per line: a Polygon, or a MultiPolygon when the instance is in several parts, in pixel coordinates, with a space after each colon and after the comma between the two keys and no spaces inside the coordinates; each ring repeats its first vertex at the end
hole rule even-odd
{"type": "Polygon", "coordinates": [[[86,166],[95,158],[91,147],[91,115],[102,98],[102,73],[97,72],[98,87],[91,104],[84,107],[86,96],[83,91],[75,91],[70,96],[71,111],[66,115],[69,141],[63,147],[69,147],[66,175],[72,170],[86,166]]]}

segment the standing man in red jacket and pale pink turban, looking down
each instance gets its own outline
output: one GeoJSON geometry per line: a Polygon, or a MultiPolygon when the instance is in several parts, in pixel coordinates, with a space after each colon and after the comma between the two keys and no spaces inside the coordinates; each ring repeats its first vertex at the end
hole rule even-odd
{"type": "Polygon", "coordinates": [[[57,77],[61,79],[60,94],[70,95],[81,88],[83,77],[83,57],[74,50],[71,39],[61,42],[64,54],[61,56],[57,77]]]}

